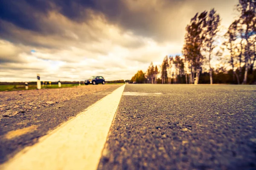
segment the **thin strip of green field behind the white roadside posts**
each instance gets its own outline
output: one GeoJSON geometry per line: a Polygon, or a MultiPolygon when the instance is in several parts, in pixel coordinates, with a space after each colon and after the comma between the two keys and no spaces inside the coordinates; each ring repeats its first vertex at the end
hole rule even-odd
{"type": "MultiPolygon", "coordinates": [[[[124,83],[106,83],[106,84],[124,84],[124,83]]],[[[84,85],[81,83],[81,85],[84,85]]],[[[71,88],[71,87],[77,87],[79,84],[61,84],[61,88],[71,88]]],[[[37,85],[29,85],[29,90],[36,89],[37,85]]],[[[42,86],[42,89],[47,89],[47,88],[59,88],[58,85],[51,85],[49,84],[44,87],[42,86]]],[[[25,85],[0,85],[0,91],[19,91],[19,90],[26,90],[25,85]]]]}

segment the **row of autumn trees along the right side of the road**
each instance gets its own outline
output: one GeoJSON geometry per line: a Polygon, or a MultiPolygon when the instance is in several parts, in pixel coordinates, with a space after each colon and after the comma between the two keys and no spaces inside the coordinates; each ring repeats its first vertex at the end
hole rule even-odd
{"type": "Polygon", "coordinates": [[[183,55],[166,56],[158,67],[151,62],[131,82],[256,84],[256,0],[239,0],[236,11],[222,37],[214,8],[195,14],[186,26],[183,55]],[[213,66],[213,58],[222,65],[213,66]]]}

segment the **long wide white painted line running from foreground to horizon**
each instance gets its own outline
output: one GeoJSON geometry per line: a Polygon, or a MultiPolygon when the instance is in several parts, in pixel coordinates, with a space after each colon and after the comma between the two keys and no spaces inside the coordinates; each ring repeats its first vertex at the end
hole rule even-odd
{"type": "MultiPolygon", "coordinates": [[[[95,170],[125,85],[24,149],[4,170],[95,170]]],[[[1,168],[1,169],[2,169],[1,168]]]]}

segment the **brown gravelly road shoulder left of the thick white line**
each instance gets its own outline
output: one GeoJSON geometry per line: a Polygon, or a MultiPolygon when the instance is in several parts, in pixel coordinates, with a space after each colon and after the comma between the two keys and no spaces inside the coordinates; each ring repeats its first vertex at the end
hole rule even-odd
{"type": "Polygon", "coordinates": [[[1,92],[0,163],[120,86],[1,92]]]}

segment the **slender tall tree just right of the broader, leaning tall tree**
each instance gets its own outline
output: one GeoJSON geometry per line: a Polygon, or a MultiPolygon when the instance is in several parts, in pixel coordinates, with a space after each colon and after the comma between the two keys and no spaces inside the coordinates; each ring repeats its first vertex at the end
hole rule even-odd
{"type": "Polygon", "coordinates": [[[203,51],[208,55],[208,65],[209,65],[209,75],[210,75],[210,84],[212,85],[212,51],[217,46],[214,44],[216,34],[218,33],[220,25],[220,16],[216,14],[215,9],[213,8],[206,18],[206,29],[205,29],[205,39],[204,39],[204,48],[203,51]]]}

